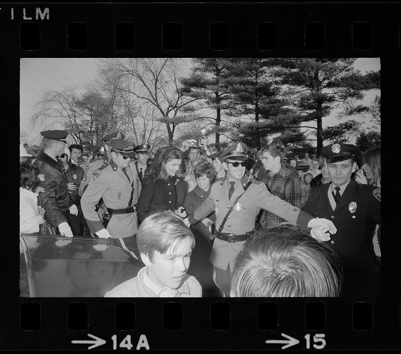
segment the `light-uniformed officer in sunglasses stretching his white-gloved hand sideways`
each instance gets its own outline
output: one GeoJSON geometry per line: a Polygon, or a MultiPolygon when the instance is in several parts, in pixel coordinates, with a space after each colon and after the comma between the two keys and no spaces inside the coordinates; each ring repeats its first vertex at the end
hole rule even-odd
{"type": "Polygon", "coordinates": [[[230,275],[237,254],[246,239],[252,236],[260,208],[266,209],[303,227],[312,227],[316,237],[329,231],[334,224],[326,219],[314,219],[298,207],[271,194],[265,183],[245,175],[247,145],[235,143],[222,152],[226,177],[213,184],[209,197],[194,211],[193,222],[216,212],[216,238],[210,260],[214,265],[214,280],[223,291],[230,293],[230,275]]]}

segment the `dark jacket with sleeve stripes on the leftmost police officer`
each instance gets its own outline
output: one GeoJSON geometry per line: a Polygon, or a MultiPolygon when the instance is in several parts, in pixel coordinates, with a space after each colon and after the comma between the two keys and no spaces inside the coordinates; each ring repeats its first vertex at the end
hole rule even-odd
{"type": "Polygon", "coordinates": [[[55,226],[68,222],[66,213],[70,207],[70,195],[61,161],[55,161],[40,151],[33,164],[39,169],[40,183],[36,192],[39,205],[46,211],[45,219],[55,226]]]}

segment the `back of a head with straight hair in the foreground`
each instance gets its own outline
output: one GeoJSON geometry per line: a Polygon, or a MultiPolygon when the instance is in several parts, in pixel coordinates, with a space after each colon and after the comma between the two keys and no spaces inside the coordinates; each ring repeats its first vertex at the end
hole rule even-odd
{"type": "Polygon", "coordinates": [[[238,254],[232,297],[333,297],[342,281],[338,256],[326,244],[285,224],[262,228],[238,254]]]}

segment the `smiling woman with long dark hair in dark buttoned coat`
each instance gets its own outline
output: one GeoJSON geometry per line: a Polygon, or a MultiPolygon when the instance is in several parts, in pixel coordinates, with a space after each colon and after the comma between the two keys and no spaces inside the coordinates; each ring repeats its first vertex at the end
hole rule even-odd
{"type": "Polygon", "coordinates": [[[188,188],[182,180],[181,161],[182,152],[178,147],[166,146],[156,151],[142,179],[137,207],[139,222],[156,211],[171,210],[180,214],[188,188]]]}

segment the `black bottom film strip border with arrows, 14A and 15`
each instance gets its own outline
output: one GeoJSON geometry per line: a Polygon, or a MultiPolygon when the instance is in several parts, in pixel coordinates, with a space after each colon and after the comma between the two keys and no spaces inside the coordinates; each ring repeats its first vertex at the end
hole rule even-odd
{"type": "Polygon", "coordinates": [[[35,299],[20,314],[15,349],[396,349],[401,330],[388,299],[35,299]]]}

